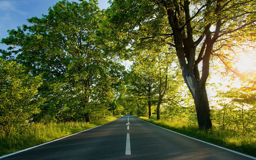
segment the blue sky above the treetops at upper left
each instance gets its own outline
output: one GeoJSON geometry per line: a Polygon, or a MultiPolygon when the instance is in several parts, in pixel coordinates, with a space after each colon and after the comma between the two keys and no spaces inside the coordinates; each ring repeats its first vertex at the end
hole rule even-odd
{"type": "MultiPolygon", "coordinates": [[[[41,18],[48,14],[49,7],[60,0],[0,0],[0,40],[8,36],[7,30],[16,29],[18,26],[28,24],[31,17],[41,18]]],[[[79,2],[78,0],[69,0],[79,2]]],[[[98,0],[100,9],[107,9],[108,0],[98,0]]],[[[8,46],[0,44],[0,49],[8,46]]]]}

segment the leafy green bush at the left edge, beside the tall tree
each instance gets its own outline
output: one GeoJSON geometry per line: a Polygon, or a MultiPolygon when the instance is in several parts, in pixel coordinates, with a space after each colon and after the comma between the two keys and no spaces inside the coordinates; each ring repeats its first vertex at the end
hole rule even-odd
{"type": "Polygon", "coordinates": [[[8,138],[12,132],[28,125],[32,114],[44,99],[37,94],[42,76],[32,77],[27,68],[15,61],[0,59],[0,131],[8,138]]]}

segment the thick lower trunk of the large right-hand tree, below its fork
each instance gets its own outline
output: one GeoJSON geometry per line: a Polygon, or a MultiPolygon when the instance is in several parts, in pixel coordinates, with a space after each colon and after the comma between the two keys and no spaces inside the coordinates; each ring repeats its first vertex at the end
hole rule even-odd
{"type": "Polygon", "coordinates": [[[212,120],[205,85],[195,89],[193,98],[196,106],[196,115],[199,129],[211,129],[212,120]]]}

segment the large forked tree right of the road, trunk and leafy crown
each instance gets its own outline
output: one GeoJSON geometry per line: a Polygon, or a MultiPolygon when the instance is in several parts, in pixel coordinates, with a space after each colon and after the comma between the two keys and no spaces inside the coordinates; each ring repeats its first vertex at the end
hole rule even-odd
{"type": "Polygon", "coordinates": [[[220,51],[227,41],[250,41],[255,35],[255,0],[113,0],[108,14],[118,43],[135,49],[161,42],[176,50],[199,128],[212,128],[205,89],[212,51],[220,51]]]}

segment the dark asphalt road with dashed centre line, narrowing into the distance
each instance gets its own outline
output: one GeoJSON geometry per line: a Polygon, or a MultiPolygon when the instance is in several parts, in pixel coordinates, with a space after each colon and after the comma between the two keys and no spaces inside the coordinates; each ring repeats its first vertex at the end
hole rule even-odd
{"type": "Polygon", "coordinates": [[[195,140],[126,115],[4,160],[245,160],[256,159],[195,140]]]}

